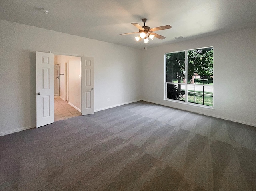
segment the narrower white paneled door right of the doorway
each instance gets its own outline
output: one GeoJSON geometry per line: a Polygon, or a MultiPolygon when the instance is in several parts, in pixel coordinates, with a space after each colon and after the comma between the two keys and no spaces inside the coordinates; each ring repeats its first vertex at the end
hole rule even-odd
{"type": "Polygon", "coordinates": [[[81,113],[94,114],[94,58],[81,57],[81,113]]]}

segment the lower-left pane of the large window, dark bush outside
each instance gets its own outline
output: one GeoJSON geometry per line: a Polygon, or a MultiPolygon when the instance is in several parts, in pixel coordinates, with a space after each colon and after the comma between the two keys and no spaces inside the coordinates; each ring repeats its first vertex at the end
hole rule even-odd
{"type": "Polygon", "coordinates": [[[185,85],[167,84],[166,98],[185,101],[185,85]]]}

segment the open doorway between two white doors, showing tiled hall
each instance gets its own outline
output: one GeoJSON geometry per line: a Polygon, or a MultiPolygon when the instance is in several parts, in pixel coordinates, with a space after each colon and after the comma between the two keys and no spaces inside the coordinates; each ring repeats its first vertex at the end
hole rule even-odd
{"type": "Polygon", "coordinates": [[[81,57],[54,55],[55,68],[54,121],[80,116],[81,57]]]}

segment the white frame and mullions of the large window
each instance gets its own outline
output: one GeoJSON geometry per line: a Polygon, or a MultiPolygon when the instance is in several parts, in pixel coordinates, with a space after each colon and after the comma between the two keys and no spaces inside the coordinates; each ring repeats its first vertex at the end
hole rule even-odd
{"type": "MultiPolygon", "coordinates": [[[[209,86],[212,87],[212,99],[214,99],[214,83],[212,85],[209,84],[194,84],[191,85],[190,83],[188,84],[188,51],[191,50],[197,50],[197,49],[204,49],[204,48],[213,48],[213,46],[209,47],[203,47],[203,48],[196,48],[196,49],[188,49],[188,50],[182,50],[182,51],[175,51],[175,52],[169,52],[164,54],[164,100],[170,101],[170,102],[176,102],[176,103],[181,103],[181,104],[186,104],[186,105],[192,105],[192,106],[197,106],[197,107],[202,107],[202,108],[209,108],[209,109],[214,109],[214,104],[213,106],[208,106],[208,105],[202,105],[202,104],[197,104],[197,103],[192,103],[188,102],[188,86],[209,86]],[[166,63],[166,55],[170,53],[179,53],[179,52],[185,52],[185,79],[186,83],[184,84],[183,82],[180,83],[173,83],[173,82],[166,82],[166,70],[167,70],[167,63],[166,63]],[[167,98],[167,84],[180,84],[180,85],[185,85],[185,101],[181,100],[174,100],[174,99],[169,99],[167,98]]],[[[214,54],[214,52],[213,52],[214,54]]],[[[214,55],[213,55],[214,56],[214,55]]],[[[214,81],[214,79],[213,79],[214,81]]]]}

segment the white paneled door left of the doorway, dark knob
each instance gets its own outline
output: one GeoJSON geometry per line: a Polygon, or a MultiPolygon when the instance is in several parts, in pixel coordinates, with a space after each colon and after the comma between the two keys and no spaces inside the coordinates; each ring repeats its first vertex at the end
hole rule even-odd
{"type": "Polygon", "coordinates": [[[36,52],[36,127],[54,122],[54,54],[36,52]]]}

